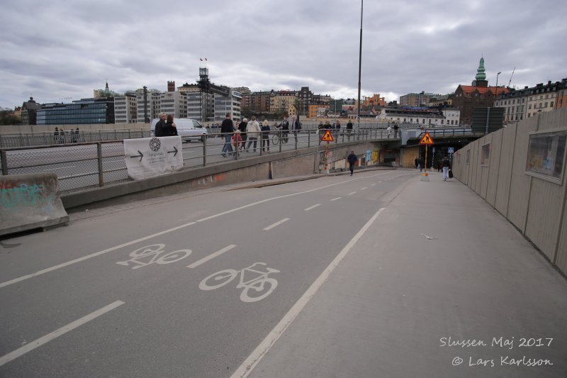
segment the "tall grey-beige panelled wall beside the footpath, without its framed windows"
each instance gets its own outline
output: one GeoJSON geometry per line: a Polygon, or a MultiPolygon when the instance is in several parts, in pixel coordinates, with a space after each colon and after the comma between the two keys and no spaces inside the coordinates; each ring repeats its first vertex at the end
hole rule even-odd
{"type": "Polygon", "coordinates": [[[456,152],[453,172],[567,272],[567,161],[563,161],[561,182],[534,177],[525,170],[529,133],[544,130],[567,130],[567,109],[540,113],[466,145],[456,152]],[[482,146],[488,143],[490,163],[481,165],[482,146]],[[471,154],[469,164],[467,153],[471,154]]]}

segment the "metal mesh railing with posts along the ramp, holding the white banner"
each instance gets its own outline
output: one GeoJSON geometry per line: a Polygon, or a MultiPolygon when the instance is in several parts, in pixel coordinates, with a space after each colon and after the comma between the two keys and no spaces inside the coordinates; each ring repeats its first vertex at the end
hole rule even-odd
{"type": "MultiPolygon", "coordinates": [[[[335,136],[332,143],[388,139],[387,131],[379,129],[331,131],[335,136]]],[[[269,152],[299,150],[326,144],[320,141],[320,130],[301,130],[298,133],[293,130],[288,133],[274,130],[259,133],[255,135],[256,143],[252,140],[252,135],[242,133],[241,135],[246,135],[247,138],[238,144],[232,138],[235,134],[238,133],[230,134],[232,151],[228,153],[223,153],[226,143],[225,137],[220,134],[209,134],[203,141],[183,139],[183,169],[218,164],[228,159],[240,160],[269,152]]],[[[393,140],[393,134],[390,136],[393,140]]],[[[0,162],[1,173],[4,175],[55,172],[62,193],[130,180],[125,164],[123,140],[52,143],[36,148],[0,148],[0,162]]]]}

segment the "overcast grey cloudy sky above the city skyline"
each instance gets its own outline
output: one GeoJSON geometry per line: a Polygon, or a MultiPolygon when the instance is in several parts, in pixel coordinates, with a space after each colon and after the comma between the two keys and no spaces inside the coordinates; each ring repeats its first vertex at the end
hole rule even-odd
{"type": "MultiPolygon", "coordinates": [[[[0,107],[198,79],[356,98],[358,0],[1,0],[0,107]]],[[[567,1],[367,0],[361,94],[387,100],[567,77],[567,1]]]]}

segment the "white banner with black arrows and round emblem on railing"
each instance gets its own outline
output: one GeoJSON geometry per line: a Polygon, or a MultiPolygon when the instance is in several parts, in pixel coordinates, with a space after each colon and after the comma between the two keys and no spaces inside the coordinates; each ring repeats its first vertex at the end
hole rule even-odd
{"type": "Polygon", "coordinates": [[[124,140],[128,176],[147,179],[183,168],[180,136],[124,140]]]}

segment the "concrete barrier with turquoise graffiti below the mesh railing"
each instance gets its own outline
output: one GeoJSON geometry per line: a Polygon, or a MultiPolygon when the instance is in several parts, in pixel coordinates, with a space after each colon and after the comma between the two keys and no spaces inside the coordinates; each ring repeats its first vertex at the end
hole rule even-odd
{"type": "Polygon", "coordinates": [[[57,174],[0,176],[0,235],[67,222],[57,174]]]}

